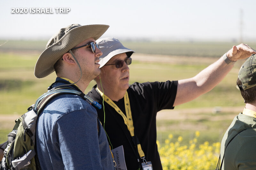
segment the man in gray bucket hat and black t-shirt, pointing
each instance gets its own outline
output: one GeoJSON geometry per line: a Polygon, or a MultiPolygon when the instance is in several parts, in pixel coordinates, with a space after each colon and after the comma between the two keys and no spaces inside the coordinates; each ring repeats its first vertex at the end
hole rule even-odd
{"type": "Polygon", "coordinates": [[[123,145],[129,170],[142,166],[150,169],[151,165],[153,169],[162,169],[156,144],[158,111],[173,109],[210,91],[228,74],[235,61],[256,53],[248,45],[240,44],[193,78],[129,85],[128,65],[132,63],[134,51],[125,48],[116,38],[96,42],[103,53],[99,62],[101,73],[88,96],[100,104],[104,99],[104,107],[96,108],[97,113],[112,148],[123,145]]]}

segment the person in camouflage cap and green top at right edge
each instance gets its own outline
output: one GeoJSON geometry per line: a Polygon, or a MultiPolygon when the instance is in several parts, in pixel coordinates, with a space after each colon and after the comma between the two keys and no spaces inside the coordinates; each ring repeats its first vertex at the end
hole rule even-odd
{"type": "Polygon", "coordinates": [[[238,72],[236,87],[245,108],[224,134],[220,147],[222,169],[255,169],[256,167],[256,55],[250,56],[238,72]],[[224,154],[225,153],[225,154],[224,154]]]}

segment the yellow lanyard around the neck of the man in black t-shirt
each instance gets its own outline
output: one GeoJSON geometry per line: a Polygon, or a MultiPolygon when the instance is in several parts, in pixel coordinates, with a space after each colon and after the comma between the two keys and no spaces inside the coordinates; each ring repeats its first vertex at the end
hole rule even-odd
{"type": "MultiPolygon", "coordinates": [[[[101,97],[104,97],[104,101],[106,101],[111,107],[113,107],[116,112],[121,115],[124,119],[124,123],[126,124],[128,130],[130,131],[131,136],[134,136],[134,127],[133,127],[133,121],[132,121],[132,112],[131,112],[131,106],[130,106],[130,100],[127,91],[125,92],[124,95],[124,107],[125,107],[125,113],[127,117],[124,115],[124,113],[121,111],[121,109],[116,106],[116,104],[108,98],[108,96],[104,95],[103,92],[100,91],[100,89],[97,87],[97,91],[100,93],[101,97]]],[[[138,152],[140,154],[140,158],[144,159],[145,154],[141,149],[140,144],[137,145],[138,147],[138,152]]]]}

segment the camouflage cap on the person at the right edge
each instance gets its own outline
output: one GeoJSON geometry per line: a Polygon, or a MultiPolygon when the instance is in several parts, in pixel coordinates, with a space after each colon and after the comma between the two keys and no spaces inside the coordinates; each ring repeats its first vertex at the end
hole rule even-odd
{"type": "Polygon", "coordinates": [[[242,85],[237,86],[239,90],[246,90],[256,86],[256,55],[251,55],[241,66],[238,78],[242,85]]]}

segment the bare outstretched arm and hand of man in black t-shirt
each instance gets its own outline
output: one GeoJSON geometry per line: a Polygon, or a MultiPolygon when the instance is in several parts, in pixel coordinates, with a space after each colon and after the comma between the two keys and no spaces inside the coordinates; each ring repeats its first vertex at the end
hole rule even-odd
{"type": "MultiPolygon", "coordinates": [[[[228,52],[227,57],[230,61],[237,61],[248,58],[256,51],[247,44],[233,46],[228,52]]],[[[195,77],[178,81],[177,95],[173,106],[186,103],[198,96],[209,92],[228,74],[233,68],[234,63],[227,64],[223,57],[220,57],[215,63],[198,73],[195,77]]]]}

